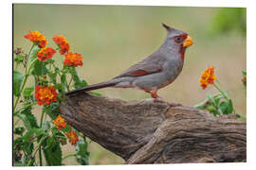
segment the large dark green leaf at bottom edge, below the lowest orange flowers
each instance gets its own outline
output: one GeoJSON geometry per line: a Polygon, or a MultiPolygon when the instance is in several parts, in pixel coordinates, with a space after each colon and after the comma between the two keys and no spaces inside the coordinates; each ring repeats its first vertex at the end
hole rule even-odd
{"type": "Polygon", "coordinates": [[[62,149],[58,141],[53,137],[48,137],[43,143],[43,151],[46,158],[46,165],[62,165],[62,149]]]}

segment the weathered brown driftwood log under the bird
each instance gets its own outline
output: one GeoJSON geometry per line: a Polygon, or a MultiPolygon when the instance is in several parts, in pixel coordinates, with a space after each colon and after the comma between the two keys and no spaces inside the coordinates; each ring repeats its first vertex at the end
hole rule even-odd
{"type": "Polygon", "coordinates": [[[126,163],[247,160],[246,122],[153,100],[76,93],[61,105],[66,122],[126,163]]]}

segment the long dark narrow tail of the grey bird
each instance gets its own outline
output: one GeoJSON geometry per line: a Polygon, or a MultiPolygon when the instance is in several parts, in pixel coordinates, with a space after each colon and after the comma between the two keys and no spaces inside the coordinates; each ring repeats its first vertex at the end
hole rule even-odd
{"type": "Polygon", "coordinates": [[[96,89],[111,87],[111,86],[114,86],[115,84],[117,84],[117,82],[104,81],[104,82],[101,82],[101,83],[98,83],[98,84],[93,84],[93,85],[86,86],[86,87],[81,88],[81,89],[76,89],[74,91],[69,91],[65,94],[69,95],[69,94],[78,93],[78,92],[88,92],[88,91],[93,91],[93,90],[96,90],[96,89]]]}

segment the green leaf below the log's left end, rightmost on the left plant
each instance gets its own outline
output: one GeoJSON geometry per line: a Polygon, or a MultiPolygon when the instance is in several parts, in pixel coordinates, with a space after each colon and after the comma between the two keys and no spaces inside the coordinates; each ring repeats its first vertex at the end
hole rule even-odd
{"type": "Polygon", "coordinates": [[[90,153],[87,151],[88,144],[86,141],[80,140],[77,142],[76,145],[76,160],[81,163],[82,165],[88,165],[89,164],[89,155],[90,153]]]}

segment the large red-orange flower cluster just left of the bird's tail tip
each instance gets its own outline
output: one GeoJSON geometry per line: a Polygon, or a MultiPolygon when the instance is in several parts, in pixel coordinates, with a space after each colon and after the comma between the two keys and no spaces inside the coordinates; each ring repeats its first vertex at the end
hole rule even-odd
{"type": "Polygon", "coordinates": [[[36,86],[35,99],[38,105],[49,105],[57,101],[57,93],[53,86],[36,86]]]}

